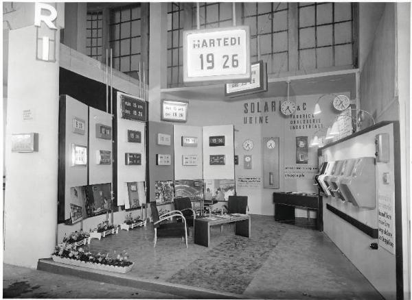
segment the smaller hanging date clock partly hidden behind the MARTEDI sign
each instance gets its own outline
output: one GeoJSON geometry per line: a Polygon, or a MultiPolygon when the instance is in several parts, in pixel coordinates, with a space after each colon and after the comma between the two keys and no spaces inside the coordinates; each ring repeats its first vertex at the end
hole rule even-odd
{"type": "Polygon", "coordinates": [[[267,92],[268,73],[266,65],[263,60],[251,64],[251,81],[225,84],[225,96],[238,97],[256,92],[267,92]]]}

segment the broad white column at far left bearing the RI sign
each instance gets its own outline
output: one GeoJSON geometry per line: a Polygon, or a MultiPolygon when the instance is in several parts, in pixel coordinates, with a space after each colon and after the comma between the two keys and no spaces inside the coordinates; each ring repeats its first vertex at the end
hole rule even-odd
{"type": "MultiPolygon", "coordinates": [[[[57,6],[64,20],[64,6],[57,6]]],[[[9,32],[3,262],[35,268],[56,245],[60,29],[56,62],[36,60],[34,14],[25,16],[27,10],[21,16],[32,18],[32,25],[9,32]],[[23,117],[23,111],[30,114],[23,117]],[[12,134],[29,132],[38,133],[38,152],[12,152],[12,134]]]]}

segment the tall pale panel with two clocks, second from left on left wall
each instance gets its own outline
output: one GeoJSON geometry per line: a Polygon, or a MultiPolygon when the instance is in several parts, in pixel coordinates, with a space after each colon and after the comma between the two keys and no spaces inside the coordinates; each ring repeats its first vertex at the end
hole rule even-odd
{"type": "Polygon", "coordinates": [[[89,108],[89,184],[111,184],[112,116],[102,110],[89,108]]]}

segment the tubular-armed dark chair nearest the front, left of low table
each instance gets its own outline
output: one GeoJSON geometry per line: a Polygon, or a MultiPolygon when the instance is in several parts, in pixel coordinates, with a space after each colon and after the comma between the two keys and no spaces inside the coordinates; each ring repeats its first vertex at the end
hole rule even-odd
{"type": "Polygon", "coordinates": [[[172,210],[171,212],[166,212],[165,214],[159,216],[159,211],[157,210],[156,202],[150,203],[150,209],[152,210],[153,226],[155,227],[155,238],[153,240],[153,247],[156,247],[158,237],[167,238],[181,236],[183,242],[184,239],[186,239],[187,248],[188,228],[186,226],[185,216],[183,216],[183,214],[179,210],[172,210]],[[182,222],[173,221],[172,218],[174,216],[179,216],[180,218],[182,218],[182,222]]]}

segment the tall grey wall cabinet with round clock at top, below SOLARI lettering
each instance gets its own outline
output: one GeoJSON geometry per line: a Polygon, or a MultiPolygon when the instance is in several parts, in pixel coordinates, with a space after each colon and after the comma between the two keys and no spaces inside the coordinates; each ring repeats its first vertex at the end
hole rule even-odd
{"type": "Polygon", "coordinates": [[[263,187],[280,188],[279,138],[263,138],[263,187]]]}

